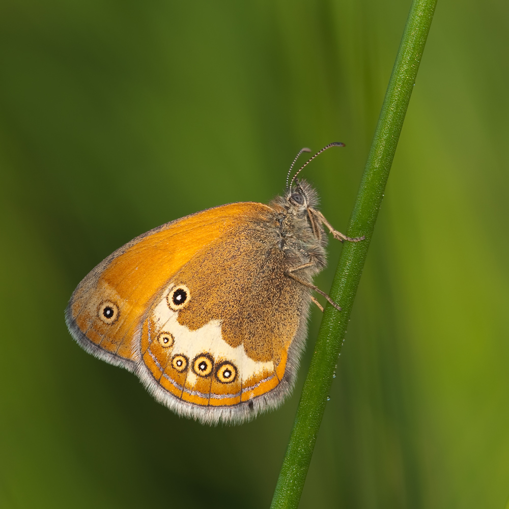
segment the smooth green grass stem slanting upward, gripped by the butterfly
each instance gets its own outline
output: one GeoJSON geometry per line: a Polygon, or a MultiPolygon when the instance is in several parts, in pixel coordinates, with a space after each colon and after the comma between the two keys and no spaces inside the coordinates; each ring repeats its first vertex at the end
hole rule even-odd
{"type": "Polygon", "coordinates": [[[330,292],[343,310],[339,312],[331,305],[325,308],[272,509],[299,505],[435,6],[436,0],[414,0],[410,8],[347,230],[349,237],[364,235],[365,240],[343,246],[330,292]]]}

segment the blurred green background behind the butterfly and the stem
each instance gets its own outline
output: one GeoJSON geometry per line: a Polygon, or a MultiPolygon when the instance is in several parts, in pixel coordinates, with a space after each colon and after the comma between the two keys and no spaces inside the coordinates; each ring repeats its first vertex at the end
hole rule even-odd
{"type": "MultiPolygon", "coordinates": [[[[302,146],[347,144],[305,175],[345,231],[409,7],[0,4],[1,507],[269,505],[299,390],[241,427],[179,419],[64,308],[136,235],[270,200],[302,146]]],[[[505,506],[508,20],[439,0],[302,508],[505,506]]]]}

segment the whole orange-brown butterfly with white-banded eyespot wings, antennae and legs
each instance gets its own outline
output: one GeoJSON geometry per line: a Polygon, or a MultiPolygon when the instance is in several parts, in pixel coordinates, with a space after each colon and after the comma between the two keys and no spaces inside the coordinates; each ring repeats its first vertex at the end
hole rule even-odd
{"type": "Polygon", "coordinates": [[[65,317],[87,352],[134,372],[155,399],[202,423],[241,423],[293,389],[313,276],[326,265],[318,194],[298,180],[269,204],[221,205],[117,249],[79,283],[65,317]]]}

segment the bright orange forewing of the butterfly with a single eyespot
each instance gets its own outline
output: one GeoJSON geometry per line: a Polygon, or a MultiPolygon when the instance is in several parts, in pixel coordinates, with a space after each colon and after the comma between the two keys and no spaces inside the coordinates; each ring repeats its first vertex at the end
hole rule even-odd
{"type": "Polygon", "coordinates": [[[162,225],[121,247],[78,285],[66,309],[75,340],[90,353],[134,370],[148,309],[197,253],[235,232],[265,205],[237,203],[162,225]]]}

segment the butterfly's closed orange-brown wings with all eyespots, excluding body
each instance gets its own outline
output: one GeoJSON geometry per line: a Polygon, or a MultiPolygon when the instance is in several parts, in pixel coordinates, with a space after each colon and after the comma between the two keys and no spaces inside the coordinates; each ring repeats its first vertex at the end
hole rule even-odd
{"type": "MultiPolygon", "coordinates": [[[[265,257],[268,269],[257,266],[246,235],[273,213],[258,203],[224,205],[162,225],[121,247],[71,297],[66,321],[75,340],[97,357],[136,371],[159,401],[180,414],[206,422],[248,418],[252,401],[283,379],[295,336],[301,343],[305,335],[306,291],[283,276],[282,254],[266,252],[264,242],[256,254],[265,257]],[[235,274],[241,273],[254,275],[239,283],[235,274]],[[214,275],[217,282],[211,285],[214,275]],[[177,312],[167,298],[179,283],[189,286],[191,298],[177,312]],[[253,296],[244,296],[242,285],[260,288],[261,294],[250,301],[253,296]],[[226,302],[224,295],[235,298],[226,302]],[[266,295],[270,305],[257,308],[266,295]],[[246,314],[250,307],[255,319],[246,314]]],[[[290,371],[282,396],[274,394],[254,410],[282,400],[293,385],[290,371]]]]}

